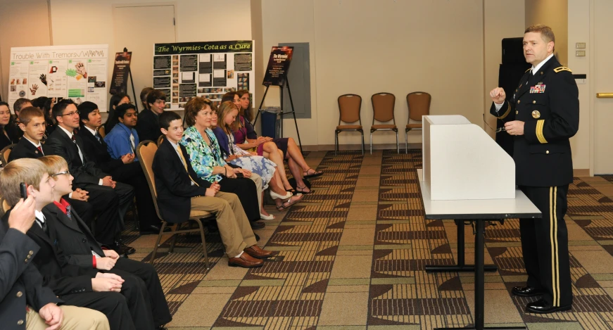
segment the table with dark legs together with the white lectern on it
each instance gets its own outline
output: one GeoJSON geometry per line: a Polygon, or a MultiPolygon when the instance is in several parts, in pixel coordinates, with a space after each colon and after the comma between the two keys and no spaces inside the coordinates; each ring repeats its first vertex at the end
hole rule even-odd
{"type": "MultiPolygon", "coordinates": [[[[541,211],[515,188],[515,163],[481,127],[461,115],[423,119],[423,170],[417,170],[425,219],[453,219],[457,224],[457,265],[426,266],[426,272],[474,272],[474,324],[462,329],[526,329],[484,326],[485,222],[538,218],[541,211]],[[465,265],[464,226],[474,224],[475,265],[465,265]]],[[[439,330],[453,328],[438,328],[439,330]]]]}

